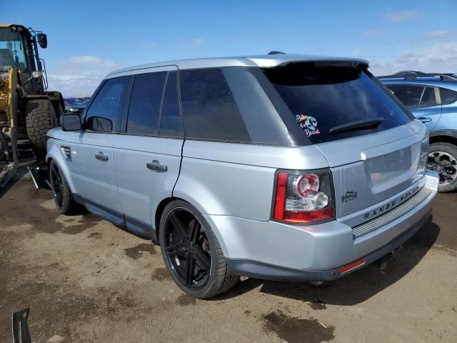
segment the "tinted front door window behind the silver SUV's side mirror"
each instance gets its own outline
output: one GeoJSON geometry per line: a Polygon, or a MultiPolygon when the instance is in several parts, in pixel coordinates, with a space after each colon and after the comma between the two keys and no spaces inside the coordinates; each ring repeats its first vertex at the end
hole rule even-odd
{"type": "Polygon", "coordinates": [[[86,129],[90,131],[116,131],[121,119],[127,78],[108,79],[87,110],[86,129]]]}

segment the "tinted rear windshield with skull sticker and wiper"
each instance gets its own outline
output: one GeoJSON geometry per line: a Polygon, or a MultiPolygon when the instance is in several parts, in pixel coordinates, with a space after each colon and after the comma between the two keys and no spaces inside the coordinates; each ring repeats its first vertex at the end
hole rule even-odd
{"type": "Polygon", "coordinates": [[[300,64],[266,69],[264,74],[290,109],[288,115],[296,119],[303,144],[371,134],[411,121],[374,76],[362,69],[300,64]],[[380,118],[376,127],[329,133],[336,126],[380,118]]]}

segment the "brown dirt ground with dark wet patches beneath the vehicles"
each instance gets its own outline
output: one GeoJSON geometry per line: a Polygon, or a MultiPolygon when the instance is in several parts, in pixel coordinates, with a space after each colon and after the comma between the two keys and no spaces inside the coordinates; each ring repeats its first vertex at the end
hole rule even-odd
{"type": "Polygon", "coordinates": [[[27,175],[0,196],[0,342],[26,307],[32,342],[457,342],[457,194],[438,195],[383,271],[321,287],[243,279],[209,301],[175,286],[158,246],[58,215],[27,175]]]}

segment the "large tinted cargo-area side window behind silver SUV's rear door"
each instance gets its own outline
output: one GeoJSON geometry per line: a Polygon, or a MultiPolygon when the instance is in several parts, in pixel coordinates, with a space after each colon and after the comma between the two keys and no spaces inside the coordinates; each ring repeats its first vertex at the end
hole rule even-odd
{"type": "Polygon", "coordinates": [[[221,69],[180,71],[184,131],[189,138],[250,142],[221,69]]]}

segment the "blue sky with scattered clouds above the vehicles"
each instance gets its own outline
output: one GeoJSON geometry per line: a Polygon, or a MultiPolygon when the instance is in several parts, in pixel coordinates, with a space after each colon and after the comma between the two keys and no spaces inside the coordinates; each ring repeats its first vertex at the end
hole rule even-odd
{"type": "Polygon", "coordinates": [[[123,66],[271,50],[361,57],[374,74],[457,72],[457,0],[0,2],[0,22],[48,35],[41,56],[66,96],[123,66]]]}

